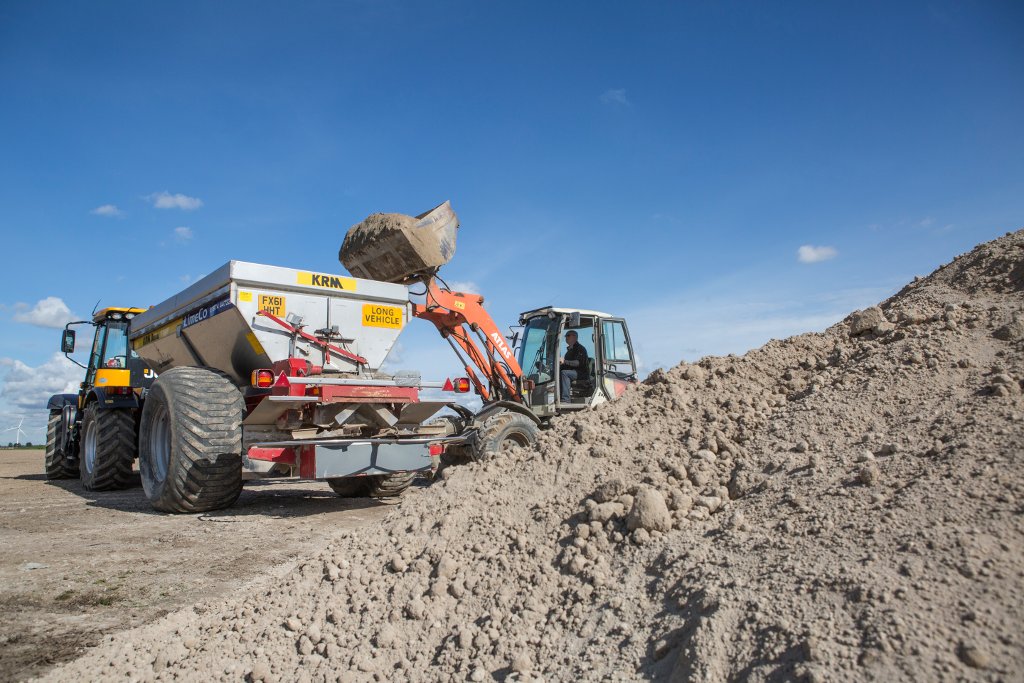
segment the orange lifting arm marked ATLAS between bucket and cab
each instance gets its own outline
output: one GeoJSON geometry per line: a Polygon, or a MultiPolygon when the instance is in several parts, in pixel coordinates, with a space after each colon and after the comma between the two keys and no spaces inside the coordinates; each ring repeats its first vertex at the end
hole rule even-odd
{"type": "Polygon", "coordinates": [[[505,336],[483,308],[483,297],[440,289],[430,280],[426,300],[413,304],[413,315],[434,324],[441,337],[452,345],[466,368],[469,381],[484,401],[522,402],[522,369],[505,336]],[[483,379],[477,376],[474,367],[483,379]]]}

